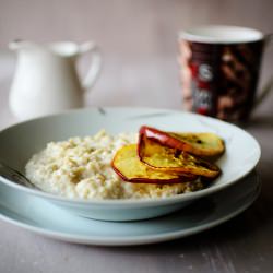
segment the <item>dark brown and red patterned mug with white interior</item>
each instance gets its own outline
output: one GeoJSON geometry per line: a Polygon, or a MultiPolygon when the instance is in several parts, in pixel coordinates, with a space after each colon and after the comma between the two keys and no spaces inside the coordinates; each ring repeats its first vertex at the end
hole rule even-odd
{"type": "Polygon", "coordinates": [[[260,64],[272,35],[239,26],[206,25],[179,33],[183,107],[227,121],[247,121],[269,93],[257,97],[260,64]]]}

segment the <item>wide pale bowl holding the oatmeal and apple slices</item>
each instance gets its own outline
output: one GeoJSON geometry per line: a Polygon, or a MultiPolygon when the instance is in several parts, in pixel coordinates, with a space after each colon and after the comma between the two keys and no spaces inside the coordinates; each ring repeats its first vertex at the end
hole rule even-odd
{"type": "Polygon", "coordinates": [[[146,201],[69,200],[19,186],[4,178],[0,180],[19,191],[50,200],[78,215],[108,221],[141,219],[176,211],[191,201],[229,187],[249,174],[261,155],[258,142],[249,133],[213,118],[167,109],[112,107],[75,110],[8,128],[0,132],[0,159],[24,171],[27,159],[49,141],[92,135],[103,128],[110,133],[138,132],[143,124],[167,131],[203,131],[221,135],[226,144],[226,152],[217,162],[223,174],[204,190],[146,201]]]}

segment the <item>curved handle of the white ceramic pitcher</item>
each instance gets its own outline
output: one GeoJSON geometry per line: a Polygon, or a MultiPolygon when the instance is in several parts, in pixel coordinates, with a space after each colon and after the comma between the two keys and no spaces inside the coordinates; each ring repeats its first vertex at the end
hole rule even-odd
{"type": "Polygon", "coordinates": [[[93,41],[85,41],[80,45],[80,55],[91,54],[91,67],[87,71],[86,76],[82,81],[82,86],[85,91],[94,86],[98,74],[102,70],[102,55],[98,46],[93,41]]]}

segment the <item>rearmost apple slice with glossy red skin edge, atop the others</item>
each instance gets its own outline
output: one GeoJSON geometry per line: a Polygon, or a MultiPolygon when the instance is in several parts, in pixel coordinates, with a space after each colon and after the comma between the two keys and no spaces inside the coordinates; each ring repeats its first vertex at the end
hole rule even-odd
{"type": "Polygon", "coordinates": [[[214,133],[164,132],[151,127],[141,127],[140,134],[158,141],[165,146],[175,147],[202,157],[217,156],[224,153],[224,141],[214,133]]]}

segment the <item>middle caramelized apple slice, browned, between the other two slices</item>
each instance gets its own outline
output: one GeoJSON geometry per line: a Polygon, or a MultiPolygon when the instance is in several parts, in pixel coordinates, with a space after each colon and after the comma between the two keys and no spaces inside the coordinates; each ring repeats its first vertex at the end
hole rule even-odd
{"type": "Polygon", "coordinates": [[[143,133],[140,134],[138,152],[141,162],[156,170],[173,174],[186,173],[209,178],[215,178],[221,173],[216,165],[181,150],[164,146],[156,140],[149,139],[143,133]]]}

